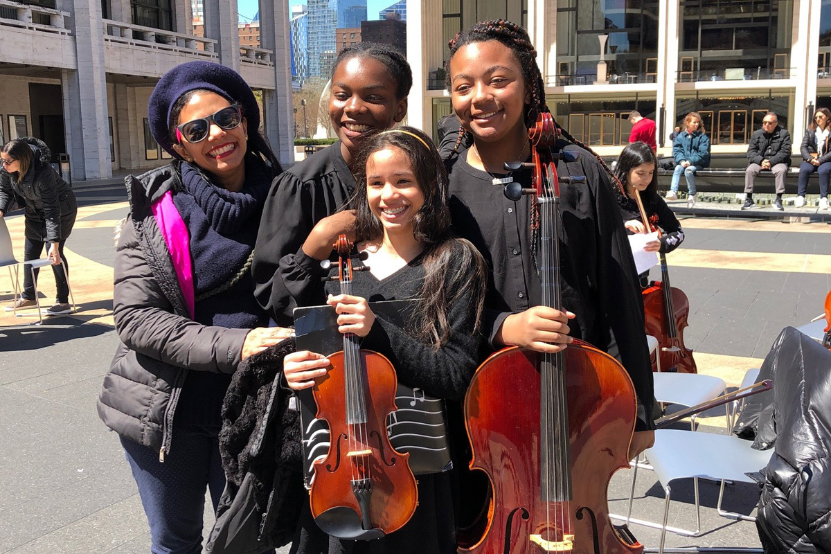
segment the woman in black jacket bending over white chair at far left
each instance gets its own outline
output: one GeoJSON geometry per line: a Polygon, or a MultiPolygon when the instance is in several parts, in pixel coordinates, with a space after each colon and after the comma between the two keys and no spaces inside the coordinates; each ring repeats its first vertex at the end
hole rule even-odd
{"type": "MultiPolygon", "coordinates": [[[[63,253],[66,238],[72,232],[78,204],[75,194],[66,181],[49,164],[52,152],[42,140],[33,136],[10,140],[0,149],[0,218],[12,207],[13,201],[22,205],[25,220],[25,241],[23,259],[37,260],[41,257],[43,247],[47,246],[47,256],[52,260],[52,272],[55,273],[57,298],[55,305],[47,308],[50,315],[68,313],[69,285],[66,272],[69,264],[63,253]],[[63,264],[63,267],[61,267],[63,264]]],[[[6,311],[37,306],[35,298],[35,280],[32,272],[23,272],[23,292],[6,311]]]]}

